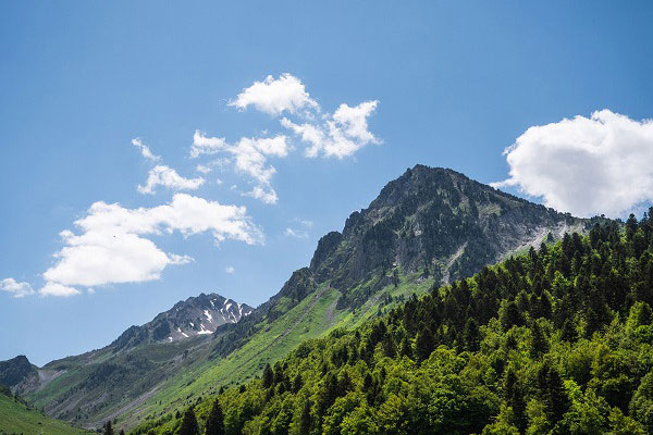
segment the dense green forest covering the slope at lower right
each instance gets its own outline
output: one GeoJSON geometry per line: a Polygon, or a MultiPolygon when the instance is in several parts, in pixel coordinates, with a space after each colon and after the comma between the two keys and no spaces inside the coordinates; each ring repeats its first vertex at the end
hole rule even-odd
{"type": "Polygon", "coordinates": [[[189,414],[204,431],[217,398],[212,424],[233,435],[652,434],[651,307],[653,220],[605,222],[308,340],[133,433],[174,434],[189,414]]]}

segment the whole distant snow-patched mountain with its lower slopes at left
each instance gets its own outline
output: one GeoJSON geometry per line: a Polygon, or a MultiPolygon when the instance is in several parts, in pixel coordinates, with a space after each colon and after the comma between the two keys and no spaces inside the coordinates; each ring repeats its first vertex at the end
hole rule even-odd
{"type": "Polygon", "coordinates": [[[49,362],[0,362],[0,378],[49,415],[95,427],[111,412],[151,395],[169,377],[207,360],[213,333],[254,309],[218,294],[190,297],[101,349],[49,362]],[[99,420],[96,420],[99,419],[99,420]]]}

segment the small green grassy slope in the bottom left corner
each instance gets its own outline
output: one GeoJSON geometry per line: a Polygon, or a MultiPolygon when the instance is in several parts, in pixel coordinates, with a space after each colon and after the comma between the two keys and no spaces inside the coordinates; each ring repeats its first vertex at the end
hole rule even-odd
{"type": "Polygon", "coordinates": [[[28,409],[13,398],[0,395],[0,434],[47,434],[78,435],[90,434],[69,424],[28,409]]]}

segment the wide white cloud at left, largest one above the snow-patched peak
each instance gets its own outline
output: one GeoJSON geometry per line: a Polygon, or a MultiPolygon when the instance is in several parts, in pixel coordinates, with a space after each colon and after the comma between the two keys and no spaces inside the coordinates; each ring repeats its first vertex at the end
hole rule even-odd
{"type": "Polygon", "coordinates": [[[169,204],[150,209],[96,202],[75,225],[81,234],[61,233],[65,246],[54,254],[57,263],[44,273],[47,284],[42,295],[71,296],[71,289],[75,290],[72,286],[158,279],[165,266],[193,261],[187,256],[163,252],[143,237],[146,235],[210,232],[217,243],[227,238],[248,245],[262,243],[262,233],[245,208],[186,194],[176,194],[169,204]]]}

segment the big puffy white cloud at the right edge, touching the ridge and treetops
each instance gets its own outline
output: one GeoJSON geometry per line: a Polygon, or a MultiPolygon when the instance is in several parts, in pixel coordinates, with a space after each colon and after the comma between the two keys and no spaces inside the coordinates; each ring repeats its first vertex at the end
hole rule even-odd
{"type": "Polygon", "coordinates": [[[504,151],[515,186],[579,216],[623,216],[653,201],[653,121],[602,110],[534,126],[504,151]]]}

